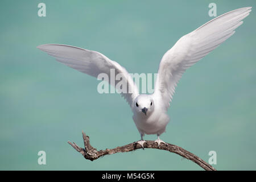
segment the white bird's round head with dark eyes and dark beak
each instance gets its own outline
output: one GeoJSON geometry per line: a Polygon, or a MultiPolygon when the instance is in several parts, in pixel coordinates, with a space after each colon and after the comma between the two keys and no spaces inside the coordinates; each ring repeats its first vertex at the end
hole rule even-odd
{"type": "Polygon", "coordinates": [[[150,95],[141,94],[134,100],[134,110],[142,115],[148,116],[154,110],[154,101],[150,95]]]}

